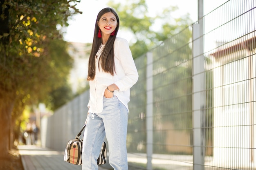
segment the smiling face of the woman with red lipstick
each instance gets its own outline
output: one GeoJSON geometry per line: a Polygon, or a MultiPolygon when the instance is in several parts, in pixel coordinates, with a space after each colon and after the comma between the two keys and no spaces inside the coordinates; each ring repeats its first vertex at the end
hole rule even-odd
{"type": "Polygon", "coordinates": [[[104,13],[98,21],[102,36],[110,36],[117,27],[117,18],[112,12],[104,13]]]}

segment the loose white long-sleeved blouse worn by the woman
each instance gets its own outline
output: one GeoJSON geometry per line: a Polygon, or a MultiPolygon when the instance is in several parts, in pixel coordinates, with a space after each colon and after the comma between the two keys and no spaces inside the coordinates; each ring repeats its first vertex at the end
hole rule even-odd
{"type": "Polygon", "coordinates": [[[107,86],[111,84],[116,84],[118,86],[119,90],[115,90],[114,95],[118,97],[118,99],[126,106],[128,110],[128,102],[130,101],[130,88],[137,82],[139,77],[128,42],[126,39],[119,37],[117,37],[114,42],[114,75],[106,73],[101,69],[101,64],[99,64],[99,57],[101,55],[103,48],[104,45],[101,45],[99,51],[96,54],[96,75],[94,80],[89,82],[89,112],[102,112],[104,91],[107,88],[107,86]]]}

